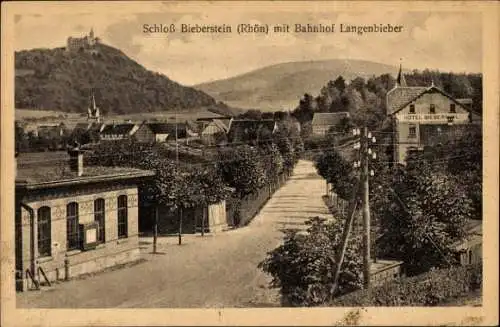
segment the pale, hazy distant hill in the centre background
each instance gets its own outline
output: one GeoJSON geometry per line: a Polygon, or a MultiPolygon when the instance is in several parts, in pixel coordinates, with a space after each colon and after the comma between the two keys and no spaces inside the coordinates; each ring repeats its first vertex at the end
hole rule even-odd
{"type": "Polygon", "coordinates": [[[396,75],[396,66],[366,60],[332,59],[275,64],[228,79],[195,85],[224,103],[263,111],[295,108],[304,93],[316,95],[339,75],[350,80],[396,75]]]}

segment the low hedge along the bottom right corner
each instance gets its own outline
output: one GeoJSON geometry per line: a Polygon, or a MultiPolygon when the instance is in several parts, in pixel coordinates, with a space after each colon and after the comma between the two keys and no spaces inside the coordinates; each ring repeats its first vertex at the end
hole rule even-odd
{"type": "Polygon", "coordinates": [[[438,269],[334,299],[332,306],[436,306],[481,288],[482,266],[438,269]]]}

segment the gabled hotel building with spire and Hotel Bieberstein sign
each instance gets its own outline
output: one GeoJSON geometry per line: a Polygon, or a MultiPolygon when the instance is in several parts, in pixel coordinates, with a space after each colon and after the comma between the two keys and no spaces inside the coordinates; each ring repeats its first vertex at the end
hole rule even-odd
{"type": "Polygon", "coordinates": [[[387,92],[387,115],[394,128],[394,161],[403,163],[408,151],[443,144],[459,138],[480,124],[470,99],[457,100],[434,84],[407,86],[399,72],[396,86],[387,92]]]}

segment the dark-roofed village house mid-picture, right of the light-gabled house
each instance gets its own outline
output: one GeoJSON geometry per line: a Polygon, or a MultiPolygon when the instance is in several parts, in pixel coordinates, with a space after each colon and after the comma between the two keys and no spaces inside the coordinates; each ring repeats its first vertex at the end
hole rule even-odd
{"type": "Polygon", "coordinates": [[[260,142],[270,140],[277,131],[278,125],[272,119],[234,119],[229,126],[227,138],[230,143],[260,142]]]}

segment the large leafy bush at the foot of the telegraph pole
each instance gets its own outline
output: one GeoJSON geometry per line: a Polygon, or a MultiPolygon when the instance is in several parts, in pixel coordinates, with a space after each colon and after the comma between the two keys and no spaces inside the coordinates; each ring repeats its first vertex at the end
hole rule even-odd
{"type": "Polygon", "coordinates": [[[270,251],[259,267],[272,276],[271,286],[280,289],[284,306],[317,306],[332,296],[362,285],[360,236],[347,246],[338,287],[333,293],[336,251],[341,244],[343,219],[325,222],[319,217],[306,222],[307,233],[285,230],[284,242],[270,251]]]}

